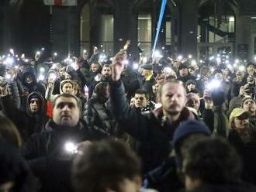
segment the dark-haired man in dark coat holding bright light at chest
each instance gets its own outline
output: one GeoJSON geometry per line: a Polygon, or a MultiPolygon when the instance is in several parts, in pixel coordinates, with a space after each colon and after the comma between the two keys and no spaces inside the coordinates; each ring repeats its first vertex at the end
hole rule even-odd
{"type": "Polygon", "coordinates": [[[71,191],[69,169],[74,153],[71,146],[92,139],[80,116],[81,102],[74,94],[58,95],[53,119],[46,125],[47,132],[32,135],[23,147],[22,155],[40,178],[42,191],[71,191]]]}

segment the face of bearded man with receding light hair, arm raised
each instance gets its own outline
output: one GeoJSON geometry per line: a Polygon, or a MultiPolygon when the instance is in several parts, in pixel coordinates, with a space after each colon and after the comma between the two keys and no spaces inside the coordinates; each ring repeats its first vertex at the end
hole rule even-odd
{"type": "Polygon", "coordinates": [[[181,84],[164,84],[161,90],[161,104],[168,115],[178,115],[185,107],[185,90],[181,84]]]}

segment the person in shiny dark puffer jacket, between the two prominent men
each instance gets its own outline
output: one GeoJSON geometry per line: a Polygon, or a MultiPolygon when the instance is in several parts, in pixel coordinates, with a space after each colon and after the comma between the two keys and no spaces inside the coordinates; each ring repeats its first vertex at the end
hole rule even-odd
{"type": "Polygon", "coordinates": [[[99,139],[116,136],[117,124],[106,101],[109,99],[109,85],[101,82],[95,87],[95,94],[85,104],[83,119],[88,129],[99,135],[99,139]]]}

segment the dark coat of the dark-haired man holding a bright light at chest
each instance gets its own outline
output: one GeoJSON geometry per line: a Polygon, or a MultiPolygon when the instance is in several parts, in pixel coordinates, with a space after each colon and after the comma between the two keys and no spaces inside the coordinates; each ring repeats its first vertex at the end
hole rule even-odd
{"type": "Polygon", "coordinates": [[[67,127],[50,121],[48,126],[51,131],[31,136],[22,148],[22,155],[40,178],[43,186],[40,191],[71,191],[70,171],[74,155],[65,152],[64,144],[77,144],[92,137],[81,123],[67,127]]]}

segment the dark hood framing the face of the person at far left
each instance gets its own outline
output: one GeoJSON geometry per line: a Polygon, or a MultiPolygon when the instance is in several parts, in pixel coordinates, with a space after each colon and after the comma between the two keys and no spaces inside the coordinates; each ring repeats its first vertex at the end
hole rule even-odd
{"type": "Polygon", "coordinates": [[[30,116],[33,117],[33,113],[29,110],[29,101],[31,100],[31,98],[33,98],[34,96],[36,96],[36,98],[39,99],[40,101],[40,111],[39,113],[37,113],[39,116],[43,116],[46,115],[47,113],[47,107],[46,107],[46,101],[43,98],[42,94],[38,93],[38,92],[32,92],[31,94],[29,94],[29,96],[26,98],[26,113],[30,116]]]}

